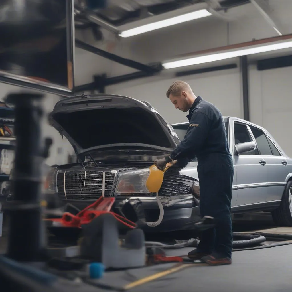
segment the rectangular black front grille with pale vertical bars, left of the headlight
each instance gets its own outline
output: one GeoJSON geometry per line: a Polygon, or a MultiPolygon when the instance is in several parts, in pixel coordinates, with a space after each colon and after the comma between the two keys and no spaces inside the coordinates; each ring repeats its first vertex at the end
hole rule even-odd
{"type": "Polygon", "coordinates": [[[104,193],[109,197],[114,184],[114,172],[92,170],[66,170],[57,173],[57,191],[60,199],[96,200],[102,196],[104,174],[104,193]],[[65,175],[65,188],[64,188],[65,175]]]}

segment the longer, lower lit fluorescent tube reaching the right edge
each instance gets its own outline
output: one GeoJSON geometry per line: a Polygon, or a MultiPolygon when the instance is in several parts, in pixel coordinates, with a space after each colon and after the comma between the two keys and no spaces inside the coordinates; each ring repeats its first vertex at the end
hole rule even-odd
{"type": "Polygon", "coordinates": [[[162,64],[162,66],[165,69],[172,69],[172,68],[177,68],[177,67],[184,67],[184,66],[197,65],[197,64],[214,62],[214,61],[219,61],[219,60],[225,60],[225,59],[235,58],[239,56],[276,51],[276,50],[281,50],[281,49],[286,49],[286,48],[292,48],[292,41],[286,41],[286,42],[270,44],[270,45],[262,45],[258,47],[252,47],[252,48],[240,48],[234,51],[229,51],[229,52],[224,52],[224,53],[214,53],[211,55],[198,56],[198,57],[184,59],[184,60],[165,62],[162,64]]]}

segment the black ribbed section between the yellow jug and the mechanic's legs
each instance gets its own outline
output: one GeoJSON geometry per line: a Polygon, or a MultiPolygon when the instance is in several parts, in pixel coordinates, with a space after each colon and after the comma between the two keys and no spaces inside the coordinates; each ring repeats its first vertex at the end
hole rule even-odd
{"type": "Polygon", "coordinates": [[[159,196],[190,194],[194,182],[195,179],[190,176],[168,170],[164,173],[163,183],[158,194],[159,196]]]}

